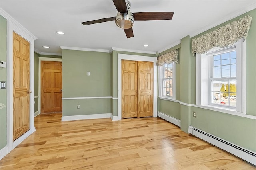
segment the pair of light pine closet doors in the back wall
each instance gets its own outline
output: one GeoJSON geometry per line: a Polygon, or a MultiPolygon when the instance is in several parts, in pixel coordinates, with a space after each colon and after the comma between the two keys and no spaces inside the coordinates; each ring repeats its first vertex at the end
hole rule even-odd
{"type": "Polygon", "coordinates": [[[122,118],[152,115],[153,63],[122,60],[122,118]]]}

